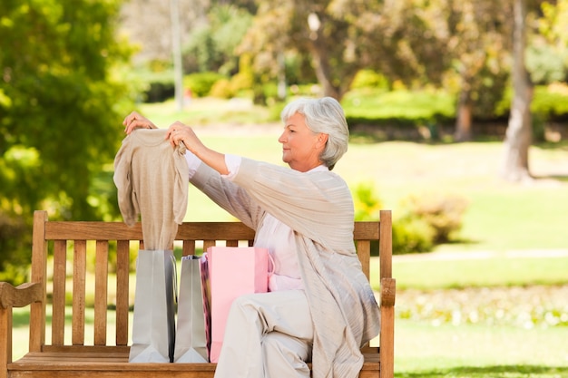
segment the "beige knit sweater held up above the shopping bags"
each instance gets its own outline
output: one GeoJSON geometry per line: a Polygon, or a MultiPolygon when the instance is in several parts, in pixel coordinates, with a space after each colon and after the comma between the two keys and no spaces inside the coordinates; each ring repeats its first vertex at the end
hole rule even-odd
{"type": "Polygon", "coordinates": [[[114,158],[118,204],[128,226],[142,220],[144,249],[171,249],[188,205],[185,146],[172,148],[165,129],[137,129],[114,158]]]}

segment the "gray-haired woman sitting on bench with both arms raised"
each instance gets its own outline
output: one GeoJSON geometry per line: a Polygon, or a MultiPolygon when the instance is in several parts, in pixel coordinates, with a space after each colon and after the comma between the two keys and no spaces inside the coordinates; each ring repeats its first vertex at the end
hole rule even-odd
{"type": "MultiPolygon", "coordinates": [[[[289,168],[206,147],[181,122],[191,183],[256,230],[274,260],[269,293],[230,308],[216,378],[357,377],[359,348],[379,332],[379,309],[353,243],[353,200],[333,173],[348,150],[348,124],[332,98],[300,99],[282,111],[279,137],[289,168]]],[[[155,128],[132,112],[125,131],[155,128]]]]}

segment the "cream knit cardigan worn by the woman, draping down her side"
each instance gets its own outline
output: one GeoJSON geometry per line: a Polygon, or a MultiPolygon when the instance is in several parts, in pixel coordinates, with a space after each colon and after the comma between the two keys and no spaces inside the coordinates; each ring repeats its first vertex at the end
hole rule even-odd
{"type": "Polygon", "coordinates": [[[244,158],[232,181],[205,164],[190,180],[250,228],[269,213],[294,230],[314,325],[312,376],[357,377],[359,348],[378,334],[380,312],[353,243],[346,182],[332,171],[303,173],[244,158]]]}

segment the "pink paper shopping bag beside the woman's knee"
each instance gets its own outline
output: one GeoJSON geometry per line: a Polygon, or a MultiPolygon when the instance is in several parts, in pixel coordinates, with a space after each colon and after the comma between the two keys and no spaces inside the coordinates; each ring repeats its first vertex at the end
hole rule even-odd
{"type": "Polygon", "coordinates": [[[269,251],[257,247],[209,247],[211,284],[211,363],[219,360],[232,301],[244,294],[266,293],[269,251]]]}

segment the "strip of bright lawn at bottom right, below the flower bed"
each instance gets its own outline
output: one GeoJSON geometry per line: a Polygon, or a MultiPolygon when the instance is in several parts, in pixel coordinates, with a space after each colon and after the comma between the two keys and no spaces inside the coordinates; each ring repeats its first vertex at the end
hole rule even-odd
{"type": "Polygon", "coordinates": [[[397,319],[397,377],[567,377],[568,328],[432,325],[397,319]]]}

